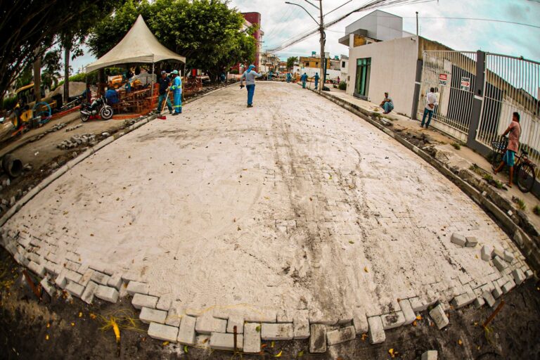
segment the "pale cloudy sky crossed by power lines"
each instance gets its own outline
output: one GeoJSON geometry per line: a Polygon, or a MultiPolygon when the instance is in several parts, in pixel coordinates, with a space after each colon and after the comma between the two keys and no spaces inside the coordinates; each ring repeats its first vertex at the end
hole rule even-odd
{"type": "MultiPolygon", "coordinates": [[[[304,0],[290,0],[302,4],[317,18],[318,10],[304,0]]],[[[318,3],[319,1],[312,1],[318,3]]],[[[324,13],[337,8],[347,0],[323,0],[324,13]]],[[[326,17],[326,22],[339,18],[368,0],[352,0],[346,6],[326,17]]],[[[262,15],[264,31],[263,49],[271,49],[288,39],[316,27],[302,8],[285,4],[285,0],[231,0],[239,11],[256,11],[262,15]]],[[[404,30],[416,32],[416,11],[420,20],[420,35],[439,41],[452,49],[463,51],[490,51],[513,56],[524,56],[540,61],[540,0],[434,0],[420,4],[384,7],[381,10],[403,17],[404,30]],[[434,19],[437,18],[437,19],[434,19]],[[535,27],[480,20],[455,20],[448,18],[482,18],[524,23],[535,27]]],[[[326,51],[331,56],[345,54],[348,49],[338,43],[345,35],[345,26],[370,13],[355,13],[326,30],[326,51]]],[[[316,34],[294,46],[278,52],[283,60],[288,56],[306,56],[311,51],[319,53],[319,36],[316,34]]],[[[91,55],[75,59],[74,70],[94,60],[91,55]]]]}

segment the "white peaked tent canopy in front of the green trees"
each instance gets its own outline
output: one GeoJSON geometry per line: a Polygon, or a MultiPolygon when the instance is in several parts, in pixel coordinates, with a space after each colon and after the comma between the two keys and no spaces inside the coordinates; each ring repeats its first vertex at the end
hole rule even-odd
{"type": "Polygon", "coordinates": [[[118,64],[158,63],[162,60],[178,60],[186,63],[184,56],[160,44],[148,29],[143,17],[139,15],[124,39],[94,63],[86,66],[86,72],[118,64]]]}

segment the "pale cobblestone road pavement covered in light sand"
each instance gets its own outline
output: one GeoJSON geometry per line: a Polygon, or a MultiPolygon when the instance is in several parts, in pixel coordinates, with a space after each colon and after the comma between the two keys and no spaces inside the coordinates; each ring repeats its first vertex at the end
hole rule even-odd
{"type": "Polygon", "coordinates": [[[87,302],[129,281],[136,307],[168,311],[145,311],[165,340],[244,321],[285,323],[265,330],[277,340],[307,321],[387,329],[409,322],[398,299],[459,307],[528,270],[470,198],[355,115],[293,84],[257,84],[255,108],[245,96],[217,91],[91,155],[8,221],[11,250],[87,302]],[[515,259],[499,271],[483,245],[515,259]]]}

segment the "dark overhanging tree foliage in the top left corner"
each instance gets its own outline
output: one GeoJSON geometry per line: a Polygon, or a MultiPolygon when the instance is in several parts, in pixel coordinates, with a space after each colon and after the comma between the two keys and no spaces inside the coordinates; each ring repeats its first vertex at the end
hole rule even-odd
{"type": "MultiPolygon", "coordinates": [[[[107,16],[117,0],[0,0],[0,98],[29,65],[58,41],[58,34],[73,27],[91,8],[107,16]]],[[[93,21],[99,19],[91,19],[93,21]]]]}

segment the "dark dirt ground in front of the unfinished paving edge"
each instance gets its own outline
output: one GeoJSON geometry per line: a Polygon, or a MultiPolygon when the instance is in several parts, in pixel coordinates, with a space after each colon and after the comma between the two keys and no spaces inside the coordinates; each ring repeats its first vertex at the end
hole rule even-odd
{"type": "MultiPolygon", "coordinates": [[[[232,352],[212,352],[207,342],[198,347],[164,345],[148,338],[146,325],[134,320],[133,330],[121,328],[120,357],[113,330],[101,330],[111,314],[136,318],[129,297],[109,304],[98,300],[87,305],[80,300],[50,298],[46,293],[39,302],[30,290],[22,269],[0,250],[0,356],[2,359],[240,359],[232,352]],[[187,352],[186,352],[187,350],[187,352]]],[[[35,279],[34,279],[35,281],[35,279]]],[[[309,354],[309,342],[263,342],[264,352],[243,354],[243,359],[420,359],[428,349],[436,349],[439,359],[540,359],[539,314],[540,283],[526,281],[505,295],[505,304],[482,329],[492,309],[468,307],[449,313],[450,325],[444,330],[431,326],[426,311],[417,326],[386,331],[386,341],[369,345],[368,338],[329,347],[326,354],[309,354]],[[461,344],[460,344],[461,340],[461,344]]],[[[203,339],[200,342],[204,342],[203,339]]]]}

